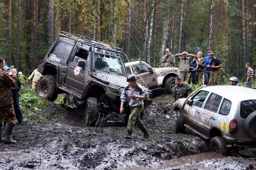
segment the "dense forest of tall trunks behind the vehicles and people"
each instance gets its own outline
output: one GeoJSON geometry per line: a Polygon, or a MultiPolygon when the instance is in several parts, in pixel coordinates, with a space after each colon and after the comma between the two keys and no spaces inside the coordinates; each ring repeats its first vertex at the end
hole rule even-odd
{"type": "MultiPolygon", "coordinates": [[[[122,48],[159,66],[165,48],[203,56],[223,75],[256,68],[256,0],[0,0],[0,57],[22,72],[37,68],[60,31],[122,48]],[[254,68],[255,67],[255,68],[254,68]]],[[[125,60],[128,59],[123,55],[125,60]]]]}

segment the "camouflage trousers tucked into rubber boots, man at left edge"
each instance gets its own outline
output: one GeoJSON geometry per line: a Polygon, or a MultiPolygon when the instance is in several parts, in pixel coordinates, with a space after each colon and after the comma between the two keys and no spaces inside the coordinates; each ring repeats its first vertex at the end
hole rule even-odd
{"type": "Polygon", "coordinates": [[[0,121],[15,125],[15,111],[13,105],[0,106],[0,121]]]}

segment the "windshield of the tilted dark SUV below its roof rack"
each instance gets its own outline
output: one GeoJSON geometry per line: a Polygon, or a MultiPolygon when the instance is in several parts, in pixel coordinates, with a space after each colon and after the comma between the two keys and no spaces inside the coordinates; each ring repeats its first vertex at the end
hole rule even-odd
{"type": "Polygon", "coordinates": [[[119,57],[95,53],[95,69],[125,74],[119,57]]]}

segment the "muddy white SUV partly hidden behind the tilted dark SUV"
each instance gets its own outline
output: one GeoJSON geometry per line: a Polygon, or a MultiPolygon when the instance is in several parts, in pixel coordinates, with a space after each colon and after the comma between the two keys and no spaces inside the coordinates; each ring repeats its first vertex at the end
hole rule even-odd
{"type": "Polygon", "coordinates": [[[175,77],[180,75],[177,67],[152,68],[141,60],[126,62],[125,68],[128,74],[135,74],[137,82],[154,91],[160,88],[172,94],[175,86],[175,77]]]}

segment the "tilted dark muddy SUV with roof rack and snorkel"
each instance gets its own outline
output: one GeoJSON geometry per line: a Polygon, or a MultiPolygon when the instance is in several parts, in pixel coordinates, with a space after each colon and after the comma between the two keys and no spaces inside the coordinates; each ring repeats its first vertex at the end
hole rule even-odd
{"type": "MultiPolygon", "coordinates": [[[[94,124],[99,113],[119,111],[128,85],[122,49],[67,32],[59,34],[38,70],[43,77],[37,94],[52,102],[58,94],[73,95],[76,106],[85,108],[86,125],[94,124]]],[[[152,103],[153,93],[148,93],[145,106],[152,103]]]]}

